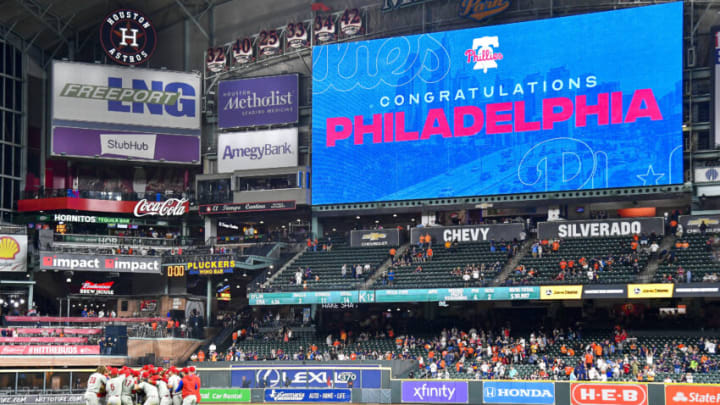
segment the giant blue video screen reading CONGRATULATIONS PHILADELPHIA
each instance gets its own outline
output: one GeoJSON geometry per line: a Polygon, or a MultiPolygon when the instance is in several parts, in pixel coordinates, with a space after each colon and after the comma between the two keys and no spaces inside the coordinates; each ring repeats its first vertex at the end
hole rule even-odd
{"type": "Polygon", "coordinates": [[[682,7],[313,48],[313,204],[682,183],[682,7]]]}

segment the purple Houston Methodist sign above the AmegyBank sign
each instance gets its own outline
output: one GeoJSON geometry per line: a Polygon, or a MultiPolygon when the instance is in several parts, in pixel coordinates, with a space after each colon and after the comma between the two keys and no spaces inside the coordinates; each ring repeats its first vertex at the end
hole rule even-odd
{"type": "Polygon", "coordinates": [[[298,122],[298,75],[227,80],[218,85],[218,128],[298,122]]]}

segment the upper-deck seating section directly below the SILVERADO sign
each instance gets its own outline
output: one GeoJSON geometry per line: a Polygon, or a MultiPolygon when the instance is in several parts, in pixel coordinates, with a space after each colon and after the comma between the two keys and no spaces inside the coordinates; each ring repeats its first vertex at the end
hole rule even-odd
{"type": "Polygon", "coordinates": [[[527,253],[520,261],[525,274],[517,271],[517,268],[513,269],[507,281],[508,284],[515,285],[631,283],[637,277],[637,273],[645,269],[648,262],[645,253],[633,253],[631,242],[631,237],[568,239],[560,241],[560,248],[556,252],[553,252],[551,245],[548,244],[543,246],[542,258],[527,253]],[[610,262],[611,265],[596,271],[596,277],[591,280],[587,270],[583,270],[579,263],[581,258],[587,260],[590,268],[596,260],[610,262]],[[557,277],[560,274],[562,260],[574,261],[575,271],[567,268],[564,279],[560,280],[557,277]],[[636,266],[633,264],[635,261],[637,261],[636,266]],[[536,272],[534,276],[526,274],[531,270],[536,272]]]}

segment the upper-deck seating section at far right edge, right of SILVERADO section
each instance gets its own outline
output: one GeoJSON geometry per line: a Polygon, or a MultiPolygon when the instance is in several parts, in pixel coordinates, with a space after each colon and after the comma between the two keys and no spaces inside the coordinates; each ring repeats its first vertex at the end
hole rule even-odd
{"type": "Polygon", "coordinates": [[[687,272],[691,272],[692,282],[703,282],[703,281],[717,281],[710,276],[720,276],[720,262],[713,256],[713,249],[709,248],[707,242],[710,238],[717,238],[715,235],[685,235],[682,238],[678,238],[678,242],[682,243],[687,241],[689,247],[687,249],[676,248],[673,246],[670,250],[675,254],[675,260],[672,263],[664,261],[658,266],[657,272],[655,273],[655,281],[671,281],[668,276],[672,277],[672,280],[679,282],[687,281],[687,272]],[[678,268],[682,267],[685,274],[679,275],[678,268]],[[708,276],[708,278],[706,278],[708,276]]]}

